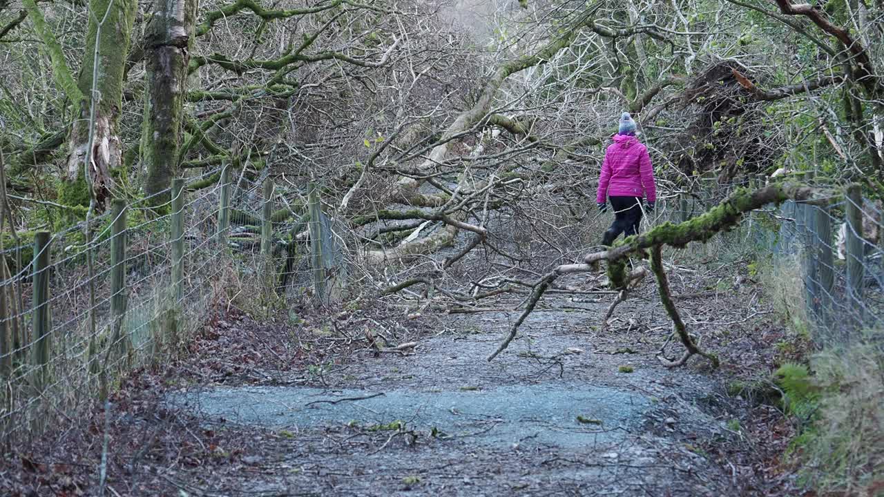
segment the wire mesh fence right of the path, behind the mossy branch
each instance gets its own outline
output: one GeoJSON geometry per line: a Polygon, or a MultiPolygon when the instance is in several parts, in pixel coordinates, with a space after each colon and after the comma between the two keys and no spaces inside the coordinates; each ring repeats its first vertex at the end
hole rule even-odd
{"type": "MultiPolygon", "coordinates": [[[[682,222],[720,203],[736,187],[760,187],[758,180],[664,194],[655,222],[682,222]]],[[[787,201],[767,206],[721,236],[768,256],[773,271],[794,279],[800,302],[790,325],[822,346],[871,341],[884,347],[884,224],[880,201],[850,187],[826,206],[787,201]]]]}

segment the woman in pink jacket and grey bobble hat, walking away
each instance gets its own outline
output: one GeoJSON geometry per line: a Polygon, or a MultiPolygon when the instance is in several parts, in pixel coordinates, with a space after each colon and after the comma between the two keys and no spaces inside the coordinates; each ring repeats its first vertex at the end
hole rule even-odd
{"type": "Polygon", "coordinates": [[[657,201],[657,187],[648,148],[636,138],[636,121],[623,112],[618,133],[605,152],[602,172],[598,177],[596,202],[598,210],[607,210],[606,199],[613,206],[613,224],[602,237],[602,245],[610,247],[613,241],[638,233],[642,220],[642,198],[647,199],[644,210],[652,212],[657,201]]]}

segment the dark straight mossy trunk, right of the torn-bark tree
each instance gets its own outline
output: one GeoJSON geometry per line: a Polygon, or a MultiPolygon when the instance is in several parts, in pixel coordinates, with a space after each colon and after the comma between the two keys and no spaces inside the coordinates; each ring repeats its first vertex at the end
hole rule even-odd
{"type": "Polygon", "coordinates": [[[144,37],[147,94],[141,133],[144,194],[151,203],[179,175],[179,149],[187,97],[187,65],[196,18],[195,0],[156,0],[144,37]],[[156,195],[156,196],[152,196],[156,195]]]}

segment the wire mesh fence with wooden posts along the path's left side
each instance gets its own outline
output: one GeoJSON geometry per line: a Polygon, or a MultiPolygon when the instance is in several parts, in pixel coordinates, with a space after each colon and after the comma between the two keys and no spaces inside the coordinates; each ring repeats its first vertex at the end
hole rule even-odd
{"type": "Polygon", "coordinates": [[[90,242],[80,223],[3,251],[0,440],[72,421],[121,373],[174,356],[237,294],[269,307],[346,273],[319,196],[299,200],[306,185],[277,191],[229,168],[191,185],[176,180],[159,205],[115,201],[90,220],[90,242]],[[305,257],[308,232],[319,267],[305,257]]]}

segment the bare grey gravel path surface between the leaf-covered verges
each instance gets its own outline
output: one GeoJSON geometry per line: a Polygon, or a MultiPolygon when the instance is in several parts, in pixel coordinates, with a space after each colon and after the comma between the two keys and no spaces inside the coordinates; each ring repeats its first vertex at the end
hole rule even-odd
{"type": "MultiPolygon", "coordinates": [[[[440,318],[414,354],[363,352],[311,386],[168,401],[286,439],[229,494],[761,494],[730,462],[747,446],[736,420],[748,406],[723,394],[723,377],[702,361],[660,366],[647,333],[585,333],[603,309],[581,306],[538,312],[492,363],[513,314],[440,318]]],[[[623,315],[662,318],[647,307],[623,315]]]]}

